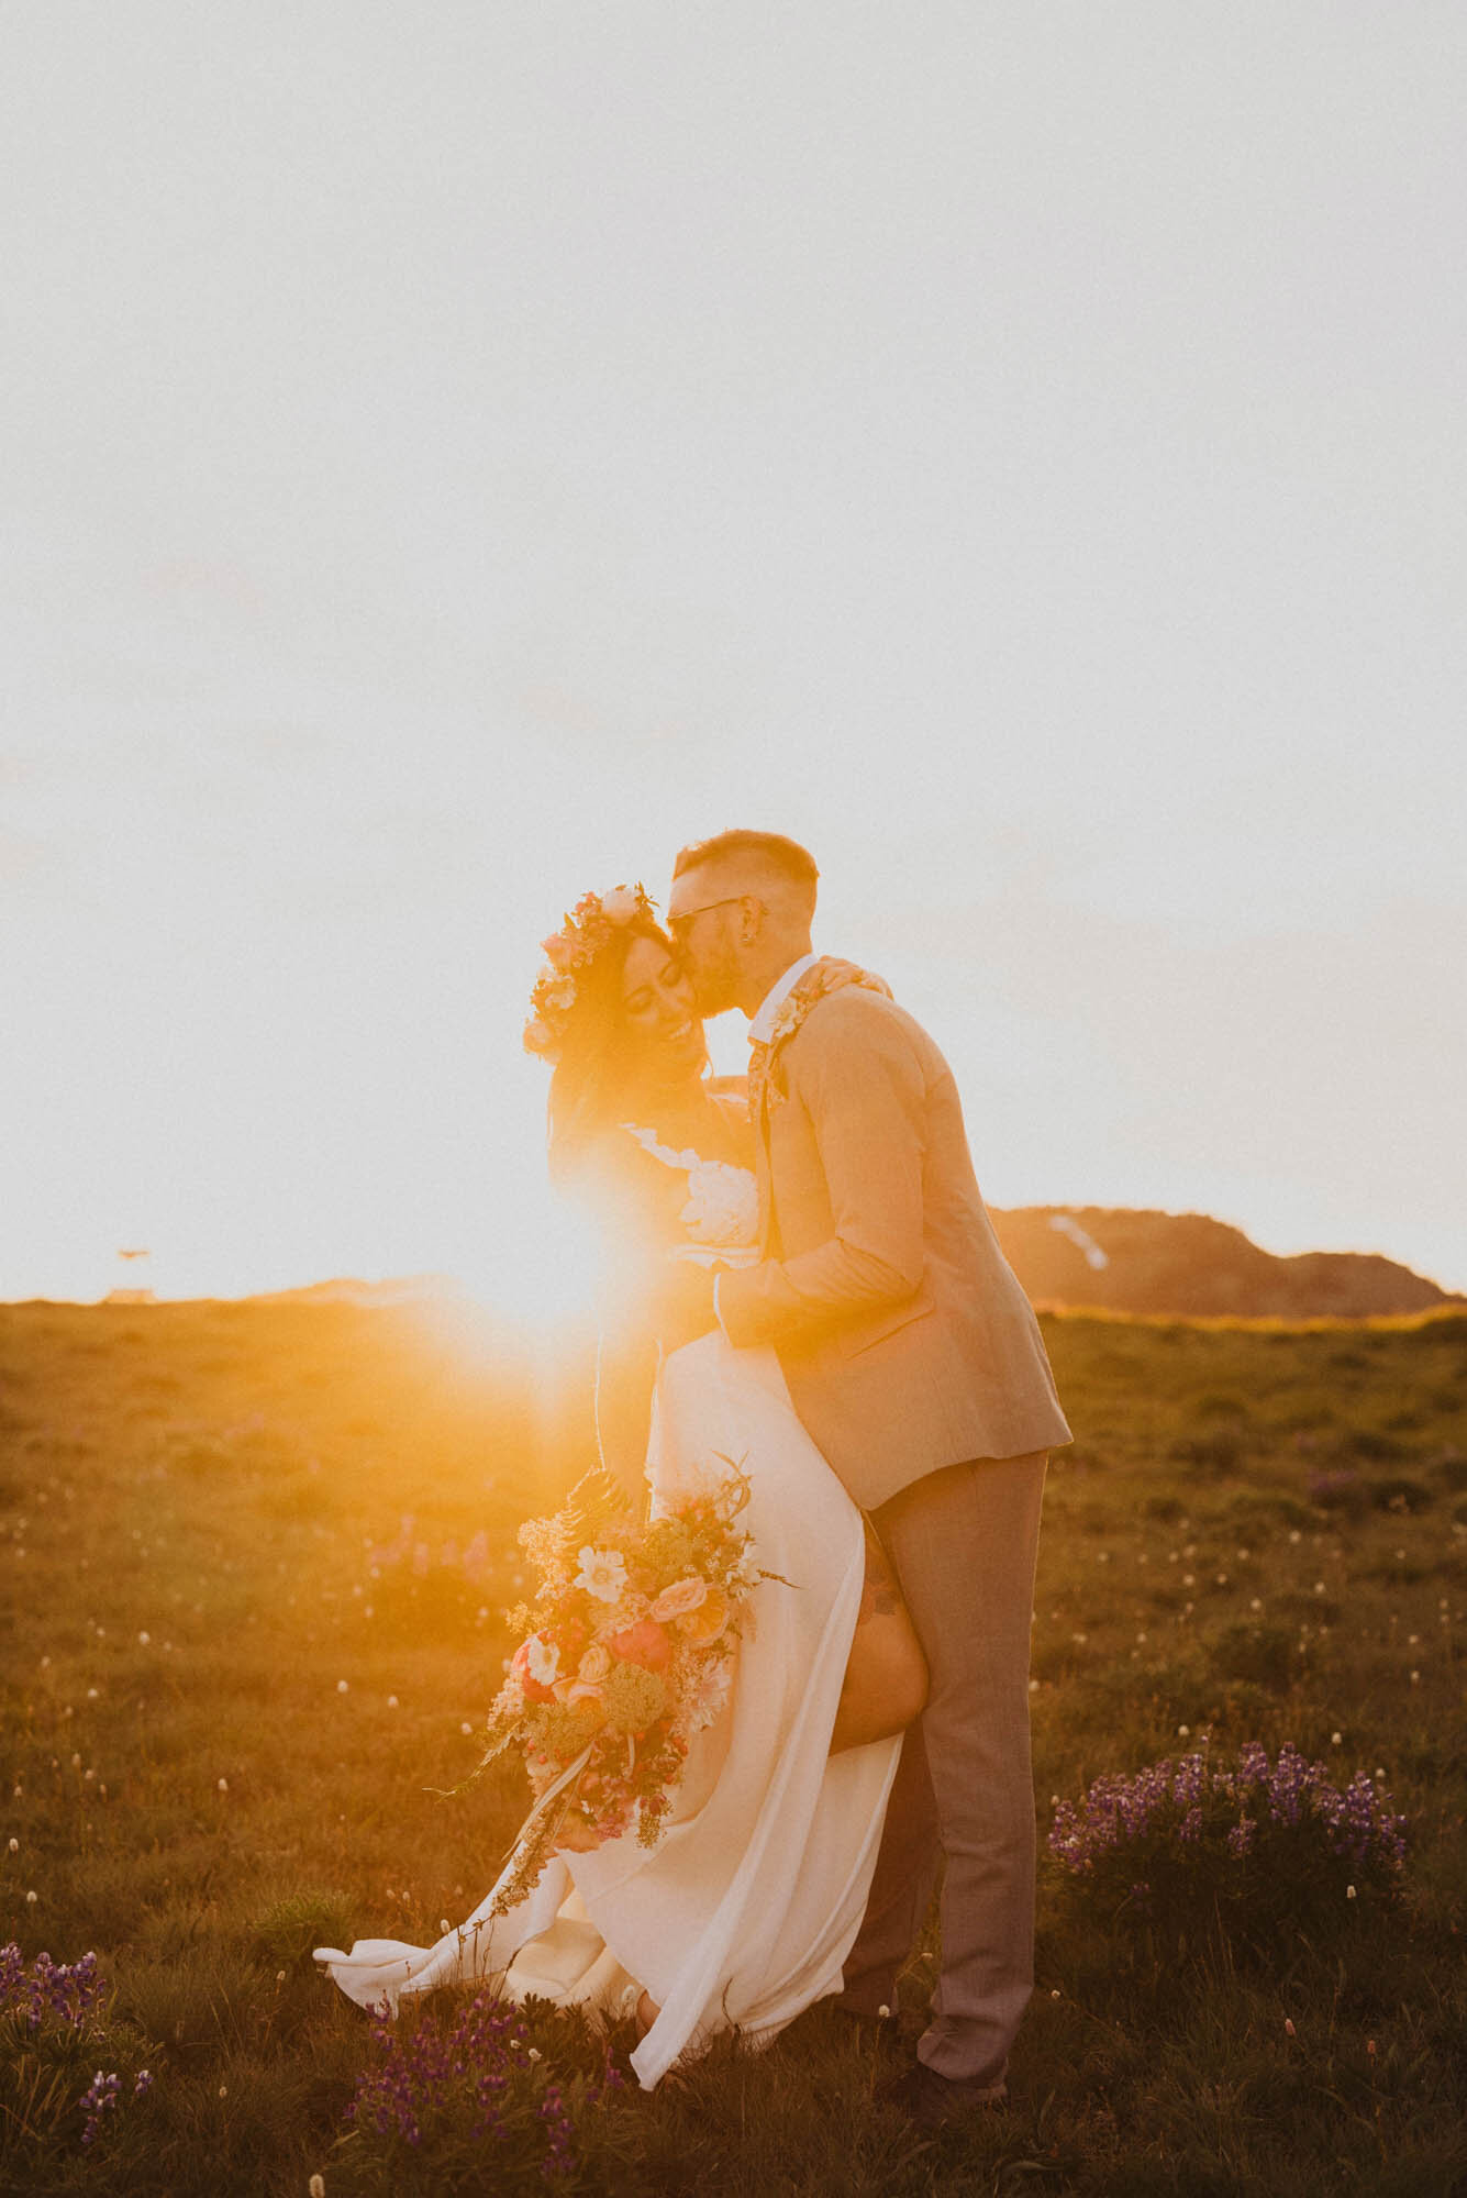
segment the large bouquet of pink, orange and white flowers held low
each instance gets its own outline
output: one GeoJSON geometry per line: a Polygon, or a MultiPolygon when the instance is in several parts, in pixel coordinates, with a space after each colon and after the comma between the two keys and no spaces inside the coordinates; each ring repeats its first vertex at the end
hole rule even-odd
{"type": "Polygon", "coordinates": [[[523,1635],[488,1717],[483,1765],[518,1747],[536,1794],[490,1914],[505,1914],[556,1846],[593,1849],[637,1824],[654,1846],[687,1745],[723,1710],[762,1574],[738,1525],[749,1481],[731,1459],[712,1495],[639,1525],[586,1475],[520,1545],[540,1576],[509,1611],[523,1635]]]}

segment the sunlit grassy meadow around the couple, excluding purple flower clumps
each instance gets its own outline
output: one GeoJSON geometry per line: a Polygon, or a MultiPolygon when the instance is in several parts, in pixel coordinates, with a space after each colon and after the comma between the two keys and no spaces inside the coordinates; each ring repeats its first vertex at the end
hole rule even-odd
{"type": "MultiPolygon", "coordinates": [[[[813,2009],[766,2055],[729,2042],[602,2108],[584,2189],[1467,2189],[1467,1319],[1048,1336],[1076,1446],[1037,1594],[1041,1829],[1052,1796],[1203,1730],[1294,1739],[1342,1780],[1386,1772],[1403,1908],[1177,1967],[1045,1868],[1006,2110],[918,2143],[872,2046],[813,2009]]],[[[367,2024],[310,1947],[433,1939],[518,1822],[509,1774],[428,1789],[474,1761],[514,1523],[582,1464],[584,1356],[551,1376],[404,1310],[0,1308],[0,1941],[97,1947],[154,2071],[90,2154],[77,2112],[44,2145],[2,2114],[0,2189],[547,2187],[472,2150],[411,2185],[343,2143],[367,2024]]],[[[907,2035],[931,1974],[927,1943],[907,2035]]],[[[542,2068],[586,2051],[567,2018],[531,2029],[542,2068]]]]}

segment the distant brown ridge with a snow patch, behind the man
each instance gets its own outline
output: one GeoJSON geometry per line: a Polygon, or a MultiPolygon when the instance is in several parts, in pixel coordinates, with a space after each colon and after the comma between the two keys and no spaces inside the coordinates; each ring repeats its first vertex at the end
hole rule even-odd
{"type": "Polygon", "coordinates": [[[990,1213],[1008,1264],[1041,1306],[1362,1321],[1463,1303],[1397,1259],[1359,1251],[1280,1259],[1208,1213],[1131,1207],[990,1213]]]}

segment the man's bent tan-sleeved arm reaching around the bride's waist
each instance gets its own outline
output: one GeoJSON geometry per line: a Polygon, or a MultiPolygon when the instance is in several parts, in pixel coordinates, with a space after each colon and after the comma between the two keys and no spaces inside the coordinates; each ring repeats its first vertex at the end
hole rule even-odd
{"type": "Polygon", "coordinates": [[[791,1259],[718,1281],[729,1343],[817,1336],[922,1284],[927,1081],[900,1022],[854,987],[824,1000],[786,1057],[791,1097],[815,1130],[832,1235],[791,1259]]]}

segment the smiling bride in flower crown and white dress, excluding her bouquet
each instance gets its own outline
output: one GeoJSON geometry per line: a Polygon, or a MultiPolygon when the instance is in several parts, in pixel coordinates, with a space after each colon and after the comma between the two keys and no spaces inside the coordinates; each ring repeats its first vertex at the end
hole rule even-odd
{"type": "Polygon", "coordinates": [[[652,1514],[736,1462],[740,1528],[769,1578],[657,1846],[635,1831],[564,1842],[507,1914],[490,1892],[433,1947],[358,1939],[316,1961],[362,2007],[492,1978],[509,1998],[635,2011],[632,2068],[650,2090],[718,2031],[766,2044],[841,1989],[927,1666],[773,1350],[734,1350],[714,1325],[716,1270],[758,1257],[753,1132],[742,1097],[705,1077],[692,987],[652,903],[639,886],[586,895],[545,952],[525,1044],[553,1062],[551,1172],[595,1205],[611,1244],[602,1462],[652,1514]]]}

